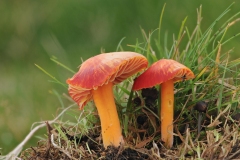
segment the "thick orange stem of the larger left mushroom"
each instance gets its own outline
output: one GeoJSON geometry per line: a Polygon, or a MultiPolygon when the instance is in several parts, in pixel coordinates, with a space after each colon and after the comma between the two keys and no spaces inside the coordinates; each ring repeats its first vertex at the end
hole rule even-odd
{"type": "Polygon", "coordinates": [[[104,146],[119,146],[123,144],[122,129],[114,102],[112,87],[113,84],[110,82],[92,91],[93,100],[101,121],[104,146]]]}

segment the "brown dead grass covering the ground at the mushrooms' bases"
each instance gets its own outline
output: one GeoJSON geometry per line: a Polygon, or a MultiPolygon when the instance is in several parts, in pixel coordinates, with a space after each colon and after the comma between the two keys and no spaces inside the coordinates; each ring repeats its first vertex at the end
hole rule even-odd
{"type": "MultiPolygon", "coordinates": [[[[23,151],[20,158],[26,160],[240,159],[240,122],[234,121],[229,116],[228,110],[229,107],[215,118],[206,118],[205,121],[209,122],[202,123],[200,136],[195,136],[196,130],[191,127],[186,127],[183,132],[180,132],[176,126],[175,139],[178,140],[175,140],[172,149],[166,149],[163,146],[159,131],[153,129],[155,122],[151,122],[149,118],[136,128],[130,126],[130,134],[125,139],[125,145],[107,149],[102,146],[100,130],[93,131],[94,135],[79,137],[79,135],[68,132],[68,129],[64,127],[59,133],[46,123],[47,139],[39,141],[36,147],[23,151]],[[204,126],[204,124],[207,125],[204,126]]],[[[151,112],[146,112],[147,117],[150,114],[151,112]]]]}

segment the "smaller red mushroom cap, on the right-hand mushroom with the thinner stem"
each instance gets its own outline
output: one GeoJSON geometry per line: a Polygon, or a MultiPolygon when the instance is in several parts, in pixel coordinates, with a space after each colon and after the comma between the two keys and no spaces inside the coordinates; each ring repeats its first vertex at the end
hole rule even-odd
{"type": "Polygon", "coordinates": [[[161,59],[153,63],[151,67],[135,79],[133,90],[151,88],[170,79],[178,82],[194,77],[193,72],[183,64],[171,59],[161,59]]]}

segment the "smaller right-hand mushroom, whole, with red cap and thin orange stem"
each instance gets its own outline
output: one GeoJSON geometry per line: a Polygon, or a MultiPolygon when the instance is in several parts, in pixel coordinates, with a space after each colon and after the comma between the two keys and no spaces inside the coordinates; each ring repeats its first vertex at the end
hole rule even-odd
{"type": "Polygon", "coordinates": [[[133,90],[161,84],[161,138],[167,148],[173,145],[174,83],[194,78],[186,66],[171,59],[161,59],[135,79],[133,90]]]}

